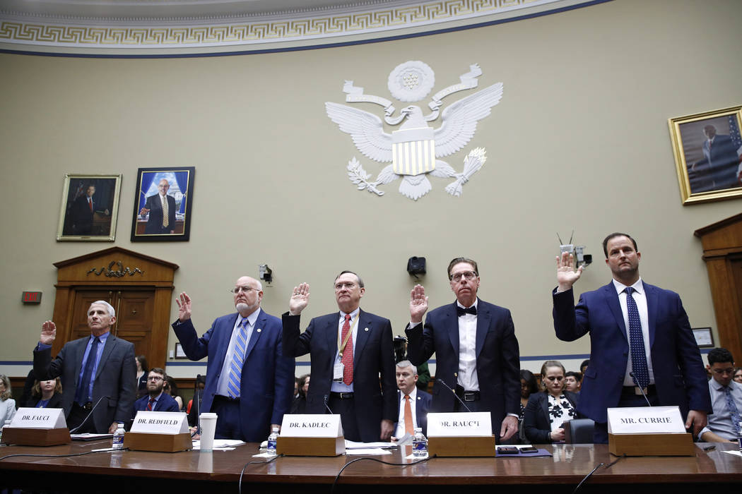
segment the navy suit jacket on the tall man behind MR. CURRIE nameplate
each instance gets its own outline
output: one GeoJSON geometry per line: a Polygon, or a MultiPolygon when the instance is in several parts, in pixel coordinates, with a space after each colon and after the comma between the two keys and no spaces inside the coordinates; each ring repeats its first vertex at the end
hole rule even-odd
{"type": "MultiPolygon", "coordinates": [[[[712,413],[706,370],[680,296],[643,283],[649,313],[649,350],[657,397],[663,406],[712,413]]],[[[613,282],[582,293],[554,290],[554,330],[562,341],[590,333],[590,365],[585,370],[577,411],[596,422],[608,421],[617,407],[628,364],[628,337],[613,282]]]]}

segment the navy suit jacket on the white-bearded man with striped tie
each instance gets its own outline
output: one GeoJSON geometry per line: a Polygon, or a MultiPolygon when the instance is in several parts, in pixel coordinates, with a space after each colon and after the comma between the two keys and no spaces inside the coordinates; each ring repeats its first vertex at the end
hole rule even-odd
{"type": "MultiPolygon", "coordinates": [[[[175,335],[191,360],[209,356],[206,364],[206,387],[201,410],[211,411],[222,373],[229,339],[238,313],[214,320],[206,333],[197,337],[191,320],[173,323],[175,335]]],[[[240,430],[242,439],[264,441],[271,433],[271,424],[280,424],[289,412],[294,394],[294,366],[291,356],[285,356],[281,346],[280,319],[260,309],[250,341],[247,344],[240,382],[240,430]]]]}

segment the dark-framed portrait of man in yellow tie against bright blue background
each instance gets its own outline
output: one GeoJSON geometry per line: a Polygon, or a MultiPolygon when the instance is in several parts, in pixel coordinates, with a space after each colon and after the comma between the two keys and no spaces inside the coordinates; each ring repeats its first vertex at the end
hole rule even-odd
{"type": "Polygon", "coordinates": [[[195,167],[139,168],[131,241],[187,241],[195,167]]]}

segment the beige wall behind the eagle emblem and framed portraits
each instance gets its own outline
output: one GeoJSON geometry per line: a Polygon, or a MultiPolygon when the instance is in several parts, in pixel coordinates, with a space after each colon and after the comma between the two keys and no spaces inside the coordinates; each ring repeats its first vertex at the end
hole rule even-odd
{"type": "MultiPolygon", "coordinates": [[[[332,279],[350,268],[366,281],[364,309],[389,317],[401,334],[414,284],[407,258],[427,257],[424,284],[437,306],[453,301],[447,262],[470,256],[480,263],[482,298],[512,310],[522,356],[588,353],[587,338],[557,341],[551,321],[556,233],[573,228],[597,261],[577,290],[610,279],[600,241],[625,230],[639,241],[643,278],[677,290],[693,326],[715,327],[692,233],[739,213],[742,202],[680,204],[667,119],[740,104],[741,18],[733,0],[617,0],[296,53],[0,55],[0,361],[30,360],[52,314],[52,263],[111,245],[55,241],[65,173],[123,173],[115,244],[180,264],[176,290],[194,299],[202,331],[232,310],[226,289],[234,279],[267,262],[275,274],[265,290],[269,313],[286,310],[300,281],[312,285],[305,323],[335,310],[332,279]],[[376,197],[346,176],[352,156],[373,176],[381,166],[329,121],[324,102],[344,100],[346,79],[388,97],[390,70],[407,60],[433,67],[436,90],[473,63],[483,70],[480,87],[505,84],[466,148],[486,147],[488,161],[460,198],[444,193],[449,181],[441,178],[431,177],[433,190],[413,202],[397,193],[398,181],[376,197]],[[137,167],[183,165],[196,167],[191,241],[131,243],[137,167]],[[42,304],[22,306],[22,290],[42,290],[42,304]]],[[[378,106],[365,109],[381,115],[378,106]]],[[[447,161],[460,171],[463,157],[447,161]]],[[[171,333],[169,349],[174,342],[171,333]]]]}

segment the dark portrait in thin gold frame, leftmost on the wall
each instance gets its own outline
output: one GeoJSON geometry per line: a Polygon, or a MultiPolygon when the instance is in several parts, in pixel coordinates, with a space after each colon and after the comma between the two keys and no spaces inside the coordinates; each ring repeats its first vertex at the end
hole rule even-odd
{"type": "Polygon", "coordinates": [[[114,241],[121,175],[65,175],[58,241],[114,241]]]}

